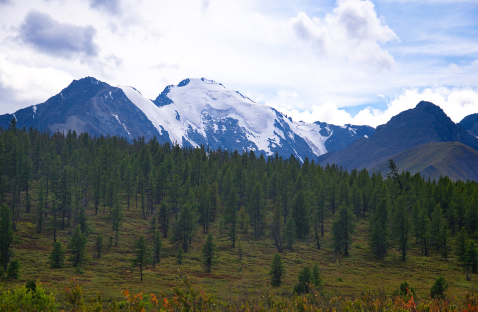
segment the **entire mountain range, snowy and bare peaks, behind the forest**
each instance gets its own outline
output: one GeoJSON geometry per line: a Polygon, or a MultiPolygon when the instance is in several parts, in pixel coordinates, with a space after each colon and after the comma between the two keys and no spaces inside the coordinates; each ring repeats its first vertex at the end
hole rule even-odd
{"type": "Polygon", "coordinates": [[[400,170],[438,179],[478,181],[478,113],[454,123],[443,110],[420,102],[378,126],[295,121],[276,109],[205,78],[167,86],[149,100],[133,87],[112,87],[95,78],[74,80],[46,102],[0,115],[6,128],[50,133],[75,130],[94,136],[118,135],[129,141],[156,137],[182,147],[209,146],[272,156],[294,155],[322,165],[387,171],[388,159],[400,170]],[[449,142],[445,144],[446,142],[449,142]]]}

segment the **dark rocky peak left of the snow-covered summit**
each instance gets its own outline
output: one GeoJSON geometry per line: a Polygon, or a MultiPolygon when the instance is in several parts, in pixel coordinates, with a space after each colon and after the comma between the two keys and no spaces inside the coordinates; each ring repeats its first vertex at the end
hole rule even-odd
{"type": "Polygon", "coordinates": [[[146,115],[119,88],[91,77],[74,80],[45,103],[0,116],[0,126],[8,126],[13,116],[17,127],[33,127],[40,131],[67,132],[71,129],[78,134],[111,134],[128,140],[145,134],[159,136],[146,115]]]}

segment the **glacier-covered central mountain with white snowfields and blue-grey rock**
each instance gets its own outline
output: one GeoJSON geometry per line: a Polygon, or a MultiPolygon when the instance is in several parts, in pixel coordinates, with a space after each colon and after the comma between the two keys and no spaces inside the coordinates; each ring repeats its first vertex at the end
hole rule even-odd
{"type": "MultiPolygon", "coordinates": [[[[278,151],[303,160],[326,153],[326,141],[334,133],[328,130],[323,134],[321,124],[294,122],[270,106],[257,104],[205,78],[185,79],[177,86],[168,86],[154,101],[140,97],[130,87],[120,88],[159,132],[164,129],[171,141],[181,146],[222,146],[265,155],[278,151]]],[[[354,130],[344,134],[352,138],[348,133],[354,130]]]]}

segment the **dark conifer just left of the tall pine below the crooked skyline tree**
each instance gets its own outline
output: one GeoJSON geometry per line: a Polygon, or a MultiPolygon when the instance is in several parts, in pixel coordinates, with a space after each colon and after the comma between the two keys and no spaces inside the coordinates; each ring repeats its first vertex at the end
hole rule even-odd
{"type": "Polygon", "coordinates": [[[388,208],[384,199],[370,215],[369,232],[369,245],[375,252],[375,258],[383,260],[388,249],[388,208]]]}

